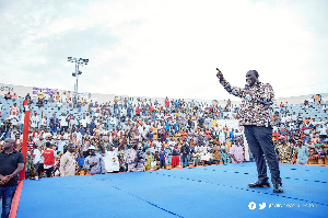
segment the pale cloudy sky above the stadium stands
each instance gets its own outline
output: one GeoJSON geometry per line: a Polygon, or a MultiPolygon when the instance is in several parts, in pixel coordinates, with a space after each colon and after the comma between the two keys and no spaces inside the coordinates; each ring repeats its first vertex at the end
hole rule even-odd
{"type": "MultiPolygon", "coordinates": [[[[83,92],[231,97],[256,69],[276,96],[327,93],[325,0],[0,0],[1,82],[83,92]]],[[[233,97],[231,97],[233,99],[233,97]]]]}

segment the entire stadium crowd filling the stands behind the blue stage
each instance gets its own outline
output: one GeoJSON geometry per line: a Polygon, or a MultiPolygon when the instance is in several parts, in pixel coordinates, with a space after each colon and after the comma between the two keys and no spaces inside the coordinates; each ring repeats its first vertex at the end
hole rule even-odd
{"type": "MultiPolygon", "coordinates": [[[[230,101],[221,106],[215,101],[207,104],[167,97],[163,104],[117,97],[113,103],[99,104],[83,99],[78,101],[78,107],[86,110],[72,114],[60,108],[78,104],[68,92],[50,94],[47,100],[43,93],[35,99],[27,94],[22,105],[9,95],[4,101],[14,102],[10,116],[1,125],[1,141],[14,138],[20,151],[24,111],[31,110],[32,114],[27,179],[253,161],[243,127],[219,124],[221,119],[239,118],[238,105],[230,101]],[[57,113],[47,117],[35,112],[36,107],[56,108],[57,113]]],[[[279,161],[325,163],[327,121],[315,122],[291,114],[288,103],[278,107],[273,113],[272,137],[279,161]]]]}

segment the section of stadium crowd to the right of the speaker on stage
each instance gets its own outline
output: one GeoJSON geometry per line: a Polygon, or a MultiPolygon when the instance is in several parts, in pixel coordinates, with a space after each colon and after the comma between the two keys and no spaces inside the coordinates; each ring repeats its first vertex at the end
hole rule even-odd
{"type": "MultiPolygon", "coordinates": [[[[312,106],[321,105],[315,102],[312,106]]],[[[304,102],[302,110],[308,110],[308,101],[304,102]]],[[[326,105],[321,110],[327,113],[326,105]]],[[[327,121],[291,113],[288,103],[280,103],[273,113],[273,122],[272,137],[281,163],[327,164],[327,121]]]]}

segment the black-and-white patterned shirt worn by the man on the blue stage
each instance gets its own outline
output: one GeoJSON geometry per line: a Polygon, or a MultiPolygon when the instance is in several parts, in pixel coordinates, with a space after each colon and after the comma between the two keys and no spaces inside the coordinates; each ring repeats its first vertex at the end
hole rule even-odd
{"type": "Polygon", "coordinates": [[[220,80],[220,83],[230,94],[242,99],[241,125],[273,126],[271,105],[274,102],[274,92],[269,83],[257,82],[249,88],[249,91],[254,92],[251,99],[247,97],[246,89],[231,87],[225,79],[220,80]]]}

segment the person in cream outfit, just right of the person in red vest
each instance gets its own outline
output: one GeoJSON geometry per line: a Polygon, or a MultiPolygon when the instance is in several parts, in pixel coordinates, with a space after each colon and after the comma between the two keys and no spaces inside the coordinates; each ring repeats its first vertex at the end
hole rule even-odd
{"type": "Polygon", "coordinates": [[[73,144],[68,145],[67,152],[60,158],[59,172],[60,176],[75,175],[77,160],[74,157],[75,147],[73,144]]]}

